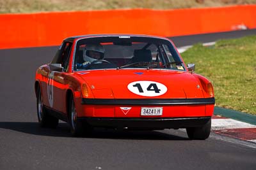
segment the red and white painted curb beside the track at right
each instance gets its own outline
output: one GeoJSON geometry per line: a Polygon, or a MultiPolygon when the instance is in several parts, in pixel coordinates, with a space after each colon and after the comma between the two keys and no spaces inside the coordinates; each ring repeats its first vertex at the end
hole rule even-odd
{"type": "Polygon", "coordinates": [[[256,125],[240,122],[232,118],[214,115],[212,117],[212,132],[256,143],[256,125]]]}

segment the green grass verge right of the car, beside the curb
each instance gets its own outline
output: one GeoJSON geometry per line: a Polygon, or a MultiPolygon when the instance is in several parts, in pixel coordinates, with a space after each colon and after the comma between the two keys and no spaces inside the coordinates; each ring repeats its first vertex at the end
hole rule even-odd
{"type": "Polygon", "coordinates": [[[256,115],[256,36],[197,44],[182,58],[212,81],[216,106],[256,115]]]}

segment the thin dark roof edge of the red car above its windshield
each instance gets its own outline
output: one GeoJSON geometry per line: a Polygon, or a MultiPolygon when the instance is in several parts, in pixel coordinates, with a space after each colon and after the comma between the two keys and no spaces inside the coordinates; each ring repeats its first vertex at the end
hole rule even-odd
{"type": "Polygon", "coordinates": [[[158,38],[158,39],[166,39],[170,41],[168,38],[160,37],[160,36],[150,36],[150,35],[145,35],[145,34],[88,34],[88,35],[81,35],[81,36],[72,36],[68,37],[65,40],[71,40],[74,41],[74,39],[83,39],[83,38],[100,38],[100,37],[115,37],[115,36],[122,36],[122,37],[141,37],[141,38],[158,38]]]}

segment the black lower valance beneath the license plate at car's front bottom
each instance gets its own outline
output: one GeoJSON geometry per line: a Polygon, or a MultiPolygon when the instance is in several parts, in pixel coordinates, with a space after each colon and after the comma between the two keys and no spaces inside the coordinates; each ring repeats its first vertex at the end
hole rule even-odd
{"type": "Polygon", "coordinates": [[[207,124],[211,117],[182,117],[182,118],[102,118],[79,117],[77,120],[93,127],[112,128],[142,128],[142,129],[179,129],[186,127],[201,127],[207,124]]]}

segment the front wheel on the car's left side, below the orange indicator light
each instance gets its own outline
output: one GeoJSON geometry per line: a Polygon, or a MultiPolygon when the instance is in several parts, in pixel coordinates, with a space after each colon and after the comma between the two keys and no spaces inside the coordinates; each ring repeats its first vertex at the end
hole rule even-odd
{"type": "Polygon", "coordinates": [[[70,125],[70,132],[72,136],[81,136],[88,132],[92,132],[92,127],[87,125],[86,122],[82,122],[77,119],[76,106],[74,102],[74,97],[70,96],[69,106],[68,106],[68,123],[70,125]]]}

